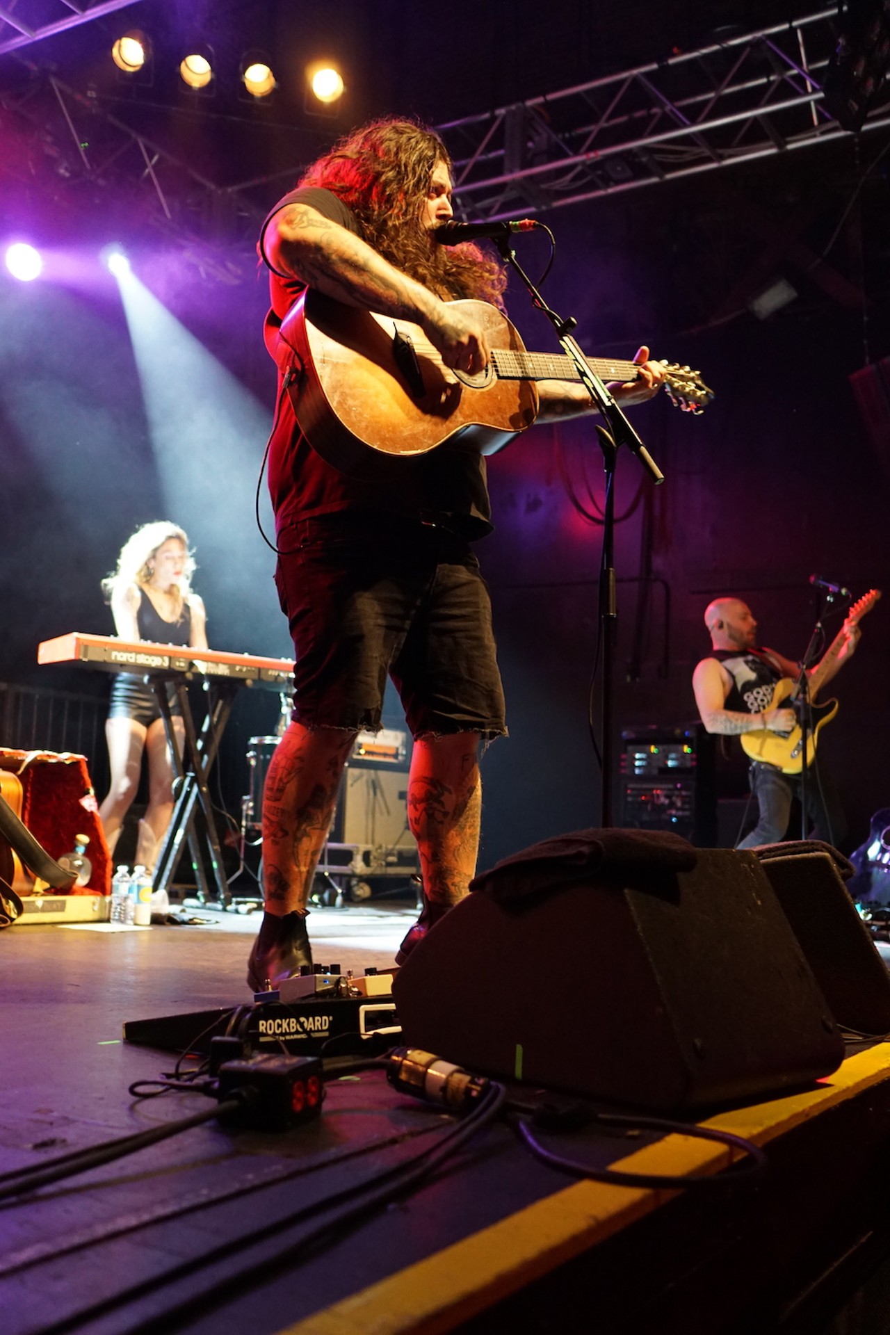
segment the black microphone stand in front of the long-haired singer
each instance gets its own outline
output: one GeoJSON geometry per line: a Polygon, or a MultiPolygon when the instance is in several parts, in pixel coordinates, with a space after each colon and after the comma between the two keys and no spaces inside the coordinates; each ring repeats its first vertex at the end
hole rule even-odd
{"type": "Polygon", "coordinates": [[[543,296],[531,282],[512,250],[508,236],[495,238],[495,244],[502,258],[519,275],[524,283],[531,304],[542,311],[552,324],[559,344],[570,359],[578,376],[590,394],[592,402],[606,422],[606,426],[596,425],[596,437],[603,453],[603,466],[606,469],[606,505],[603,513],[603,555],[599,573],[599,623],[603,646],[603,689],[600,698],[600,732],[602,732],[602,785],[600,785],[600,817],[602,829],[611,829],[615,824],[612,802],[612,713],[614,713],[614,659],[615,659],[615,630],[618,629],[618,606],[615,601],[615,462],[618,449],[626,445],[640,461],[648,473],[652,483],[658,486],[664,481],[658,465],[648,450],[630,425],[619,405],[610,394],[607,386],[600,380],[588,364],[578,340],[571,336],[571,331],[578,324],[572,316],[562,319],[556,311],[551,310],[543,296]]]}

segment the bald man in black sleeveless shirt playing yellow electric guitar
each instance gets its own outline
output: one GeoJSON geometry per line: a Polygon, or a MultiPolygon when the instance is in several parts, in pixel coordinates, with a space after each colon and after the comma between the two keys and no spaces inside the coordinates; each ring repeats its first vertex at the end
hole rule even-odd
{"type": "MultiPolygon", "coordinates": [[[[879,597],[877,591],[873,593],[875,597],[870,606],[879,597]]],[[[711,635],[711,653],[702,658],[693,673],[698,712],[709,733],[742,737],[745,750],[751,757],[750,784],[758,804],[758,820],[738,848],[778,844],[787,833],[791,798],[801,796],[803,748],[799,738],[797,742],[789,741],[798,720],[794,709],[783,704],[790,692],[777,692],[777,688],[783,678],[791,685],[797,681],[799,663],[774,649],[758,646],[757,621],[741,598],[715,598],[705,611],[705,625],[711,635]],[[773,740],[777,744],[787,742],[787,749],[782,746],[775,754],[770,753],[769,744],[773,740]],[[771,761],[758,758],[763,754],[771,754],[771,761]]],[[[821,662],[807,673],[813,697],[819,686],[837,676],[855,651],[858,639],[858,617],[849,615],[821,662]]],[[[830,710],[831,717],[835,710],[837,704],[830,710]]],[[[839,794],[825,766],[817,772],[811,764],[815,736],[809,738],[807,752],[805,789],[807,816],[814,825],[813,834],[837,846],[842,844],[847,829],[839,794]]]]}

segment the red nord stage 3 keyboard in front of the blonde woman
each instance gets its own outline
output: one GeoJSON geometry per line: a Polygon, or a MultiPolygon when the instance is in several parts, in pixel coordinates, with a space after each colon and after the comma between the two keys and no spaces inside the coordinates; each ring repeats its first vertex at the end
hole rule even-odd
{"type": "Polygon", "coordinates": [[[290,658],[259,658],[254,654],[228,654],[217,649],[191,649],[180,645],[155,645],[151,641],[128,643],[113,635],[89,635],[79,630],[37,645],[39,663],[79,662],[104,672],[128,672],[137,677],[160,673],[181,673],[184,677],[200,673],[203,677],[224,677],[267,690],[287,690],[291,686],[294,661],[290,658]]]}

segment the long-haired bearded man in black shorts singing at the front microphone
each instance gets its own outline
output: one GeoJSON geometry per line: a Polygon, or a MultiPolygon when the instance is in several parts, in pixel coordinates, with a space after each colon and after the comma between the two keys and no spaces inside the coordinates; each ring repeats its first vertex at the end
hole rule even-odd
{"type": "MultiPolygon", "coordinates": [[[[483,371],[484,330],[454,300],[502,306],[504,266],[472,243],[438,244],[435,230],[451,216],[451,164],[438,135],[410,120],[347,135],[263,227],[272,355],[284,316],[310,287],[410,320],[446,367],[483,371]]],[[[635,360],[638,379],[612,391],[624,403],[650,398],[663,379],[646,347],[635,360]]],[[[296,693],[263,798],[266,913],[248,967],[254,988],[311,961],[315,865],[355,736],[380,726],[387,676],[414,736],[408,821],[423,872],[423,910],[399,963],[467,893],[479,844],[479,748],[506,732],[488,594],[471,547],[491,531],[482,455],[446,442],[420,457],[380,455],[359,479],[312,450],[280,376],[278,392],[275,578],[296,693]]],[[[543,382],[538,392],[538,421],[594,411],[580,383],[543,382]]]]}

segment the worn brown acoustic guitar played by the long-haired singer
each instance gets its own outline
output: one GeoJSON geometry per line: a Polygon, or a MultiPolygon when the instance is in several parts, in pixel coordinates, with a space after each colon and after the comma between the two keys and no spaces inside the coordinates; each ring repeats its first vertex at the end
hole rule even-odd
{"type": "MultiPolygon", "coordinates": [[[[570,358],[527,352],[496,307],[455,303],[482,324],[491,351],[484,371],[450,370],[419,324],[356,310],[307,291],[280,330],[279,367],[296,421],[312,449],[342,473],[360,473],[376,454],[450,447],[495,454],[538,417],[535,380],[579,380],[570,358]]],[[[635,380],[634,362],[590,358],[602,380],[635,380]]],[[[701,413],[714,394],[698,371],[669,366],[671,400],[701,413]]]]}

